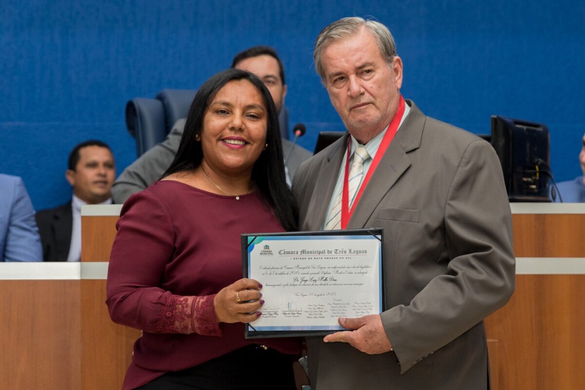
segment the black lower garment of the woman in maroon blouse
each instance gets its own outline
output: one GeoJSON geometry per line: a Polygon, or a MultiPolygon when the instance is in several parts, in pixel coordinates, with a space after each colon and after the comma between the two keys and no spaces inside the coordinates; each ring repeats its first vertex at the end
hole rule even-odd
{"type": "Polygon", "coordinates": [[[257,344],[181,371],[169,371],[136,390],[295,390],[295,356],[257,344]]]}

